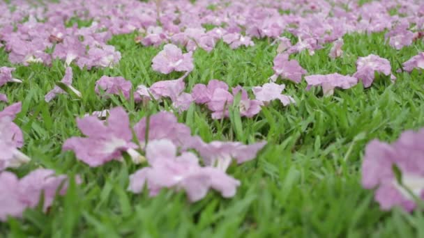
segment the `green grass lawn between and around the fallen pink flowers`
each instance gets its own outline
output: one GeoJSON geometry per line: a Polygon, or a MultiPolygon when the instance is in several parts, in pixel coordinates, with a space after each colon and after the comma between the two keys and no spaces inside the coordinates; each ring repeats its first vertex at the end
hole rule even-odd
{"type": "MultiPolygon", "coordinates": [[[[319,88],[305,91],[305,81],[285,82],[285,93],[296,104],[283,107],[274,102],[251,119],[232,113],[232,118],[211,120],[209,111],[192,106],[179,121],[205,141],[268,141],[257,159],[229,168],[228,173],[241,180],[232,199],[210,192],[190,204],[183,192],[163,190],[156,198],[146,192],[132,194],[126,191],[128,175],[140,166],[127,159],[89,168],[72,152],[61,152],[66,138],[80,135],[75,117],[84,113],[123,106],[135,124],[170,109],[169,102],[141,106],[94,93],[96,80],[104,74],[123,76],[134,86],[181,75],[153,72],[151,59],[160,49],[136,45],[134,36],[118,35],[110,41],[122,53],[116,68],[73,67],[73,85],[82,92],[81,99],[60,95],[50,104],[44,102],[45,93],[63,77],[63,63],[55,61],[51,68],[13,65],[15,77],[24,83],[0,91],[10,102],[23,103],[15,121],[24,131],[23,151],[33,158],[15,172],[22,176],[34,168],[52,168],[78,174],[84,182],[71,184],[46,214],[28,209],[24,219],[0,224],[0,237],[424,237],[423,212],[382,212],[373,191],[360,184],[368,141],[393,141],[405,129],[424,127],[424,75],[418,71],[396,73],[395,84],[377,76],[371,88],[336,90],[333,97],[322,97],[319,88]]],[[[357,56],[377,54],[388,58],[395,72],[399,63],[424,50],[423,42],[416,42],[396,51],[384,42],[384,33],[345,35],[344,40],[345,56],[335,61],[327,56],[329,45],[314,56],[304,52],[292,58],[309,74],[353,74],[357,56]]],[[[187,90],[210,79],[245,88],[262,85],[273,74],[275,54],[276,46],[266,40],[248,49],[232,50],[222,42],[210,54],[200,49],[194,54],[195,70],[185,80],[187,90]]],[[[0,51],[0,65],[10,66],[7,58],[0,51]]]]}

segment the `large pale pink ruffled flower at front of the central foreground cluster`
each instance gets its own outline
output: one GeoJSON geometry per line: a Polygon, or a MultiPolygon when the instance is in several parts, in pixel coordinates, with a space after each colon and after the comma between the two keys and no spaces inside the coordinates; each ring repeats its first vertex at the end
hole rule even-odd
{"type": "Polygon", "coordinates": [[[177,148],[171,141],[151,141],[146,148],[149,167],[130,175],[128,190],[141,193],[144,186],[150,196],[158,195],[163,188],[184,190],[191,202],[201,200],[209,189],[219,191],[224,198],[236,194],[239,180],[213,167],[202,167],[192,152],[177,155],[177,148]]]}

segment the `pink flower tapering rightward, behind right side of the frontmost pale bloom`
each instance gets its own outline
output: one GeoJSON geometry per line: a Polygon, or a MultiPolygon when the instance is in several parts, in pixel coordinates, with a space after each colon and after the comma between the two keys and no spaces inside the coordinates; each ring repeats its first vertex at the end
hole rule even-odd
{"type": "Polygon", "coordinates": [[[244,145],[240,142],[212,141],[211,143],[199,143],[195,149],[203,157],[206,166],[215,166],[222,171],[227,170],[232,159],[237,164],[255,159],[257,152],[262,150],[266,142],[244,145]]]}

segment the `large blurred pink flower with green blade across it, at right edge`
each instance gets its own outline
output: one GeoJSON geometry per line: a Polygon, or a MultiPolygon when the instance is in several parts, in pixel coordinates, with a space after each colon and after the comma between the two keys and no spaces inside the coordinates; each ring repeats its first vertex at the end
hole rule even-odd
{"type": "Polygon", "coordinates": [[[365,148],[362,184],[377,189],[375,200],[381,209],[399,206],[416,208],[416,199],[424,200],[424,129],[403,132],[398,141],[373,140],[365,148]]]}

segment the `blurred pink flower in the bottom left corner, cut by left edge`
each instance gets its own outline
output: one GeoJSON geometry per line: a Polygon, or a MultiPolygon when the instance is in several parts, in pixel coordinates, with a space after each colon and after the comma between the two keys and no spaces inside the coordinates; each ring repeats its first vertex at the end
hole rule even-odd
{"type": "Polygon", "coordinates": [[[66,175],[54,175],[53,170],[43,168],[21,179],[8,171],[0,172],[0,221],[6,221],[8,216],[21,218],[25,209],[40,203],[42,194],[43,210],[47,211],[56,193],[66,193],[67,181],[66,175]]]}

